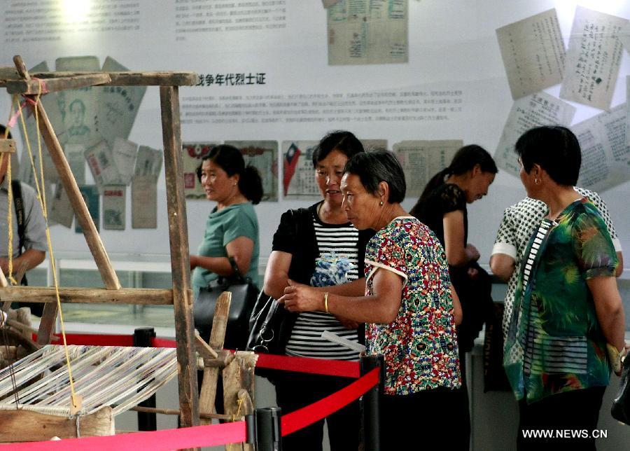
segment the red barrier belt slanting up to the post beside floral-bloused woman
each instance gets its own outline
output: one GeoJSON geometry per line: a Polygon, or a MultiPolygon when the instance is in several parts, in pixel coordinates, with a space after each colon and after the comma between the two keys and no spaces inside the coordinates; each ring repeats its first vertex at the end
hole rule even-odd
{"type": "MultiPolygon", "coordinates": [[[[360,379],[349,384],[348,387],[326,396],[319,401],[307,405],[301,409],[290,412],[281,417],[282,436],[313,424],[322,418],[328,417],[333,412],[337,412],[340,408],[345,407],[359,396],[362,396],[367,390],[379,383],[379,368],[374,368],[370,373],[360,377],[360,379]]],[[[304,387],[307,389],[307,387],[304,387]]]]}

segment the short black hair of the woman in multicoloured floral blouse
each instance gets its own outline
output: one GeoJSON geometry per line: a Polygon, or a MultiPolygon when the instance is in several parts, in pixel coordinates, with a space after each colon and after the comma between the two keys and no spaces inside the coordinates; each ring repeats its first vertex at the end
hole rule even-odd
{"type": "Polygon", "coordinates": [[[405,172],[390,151],[357,153],[346,163],[344,173],[357,175],[363,188],[372,195],[379,195],[379,183],[386,182],[389,186],[387,202],[390,204],[405,200],[405,172]]]}

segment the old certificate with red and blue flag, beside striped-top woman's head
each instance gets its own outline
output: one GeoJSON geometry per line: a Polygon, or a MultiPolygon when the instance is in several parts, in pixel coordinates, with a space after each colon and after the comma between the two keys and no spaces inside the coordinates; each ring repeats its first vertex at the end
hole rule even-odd
{"type": "Polygon", "coordinates": [[[282,190],[286,199],[320,196],[312,160],[317,144],[318,141],[282,141],[282,190]]]}

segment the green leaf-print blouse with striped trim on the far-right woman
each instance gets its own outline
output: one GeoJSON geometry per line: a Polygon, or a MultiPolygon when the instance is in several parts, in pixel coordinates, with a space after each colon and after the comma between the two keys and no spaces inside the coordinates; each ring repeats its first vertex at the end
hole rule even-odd
{"type": "Polygon", "coordinates": [[[617,254],[596,207],[583,197],[543,219],[525,252],[503,365],[528,403],[610,380],[591,277],[614,277],[617,254]]]}

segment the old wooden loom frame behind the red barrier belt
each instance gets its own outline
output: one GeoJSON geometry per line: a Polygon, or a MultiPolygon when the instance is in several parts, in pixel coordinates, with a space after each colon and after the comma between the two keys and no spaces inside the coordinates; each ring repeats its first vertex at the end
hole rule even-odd
{"type": "MultiPolygon", "coordinates": [[[[179,376],[179,415],[181,426],[195,426],[200,424],[200,407],[202,412],[209,412],[214,407],[216,396],[216,382],[218,371],[232,361],[233,357],[223,352],[223,340],[227,315],[230,307],[229,293],[224,293],[217,303],[217,312],[213,324],[210,344],[195,335],[193,326],[193,296],[190,290],[190,261],[188,254],[188,227],[186,222],[186,200],[183,191],[183,163],[181,147],[181,125],[179,117],[179,86],[195,85],[197,75],[193,72],[41,72],[31,75],[28,73],[21,57],[13,58],[15,68],[0,68],[0,87],[6,87],[7,92],[14,95],[23,95],[30,99],[37,99],[40,94],[59,90],[84,88],[87,86],[130,86],[130,85],[158,85],[160,87],[160,106],[162,113],[162,137],[164,142],[165,175],[167,189],[167,213],[169,223],[169,239],[171,248],[172,289],[123,289],[118,282],[116,272],[113,270],[109,256],[100,239],[97,228],[87,210],[83,196],[66,161],[62,146],[59,144],[48,116],[41,102],[34,102],[39,117],[39,131],[48,148],[52,162],[55,164],[59,179],[66,191],[78,224],[83,229],[85,240],[94,257],[100,275],[104,282],[104,289],[78,289],[59,288],[59,300],[63,303],[115,303],[138,305],[173,305],[175,314],[176,334],[176,368],[179,376]],[[43,82],[43,83],[42,83],[43,82]],[[200,353],[204,367],[204,382],[201,394],[197,396],[197,356],[195,349],[200,353]],[[218,352],[217,352],[218,350],[218,352]],[[201,401],[200,401],[201,400],[201,401]]],[[[15,146],[8,140],[0,139],[0,151],[15,151],[15,146]],[[4,142],[2,142],[4,141],[4,142]]],[[[0,271],[0,300],[10,302],[39,302],[45,303],[43,315],[38,330],[38,344],[46,345],[52,339],[55,322],[58,314],[57,294],[55,287],[10,286],[0,271]]],[[[78,352],[73,350],[73,352],[78,352]]],[[[87,352],[85,349],[81,352],[87,352]]],[[[91,352],[91,351],[90,351],[91,352]]],[[[40,352],[38,352],[40,353],[40,352]]],[[[80,352],[79,352],[80,354],[80,352]]],[[[244,381],[253,391],[253,365],[255,357],[251,353],[237,353],[239,363],[237,366],[224,371],[244,381]],[[247,355],[245,355],[247,354],[247,355]],[[251,381],[250,381],[251,380],[251,381]],[[251,384],[250,384],[251,382],[251,384]]],[[[2,373],[0,373],[1,375],[2,373]]],[[[229,385],[229,384],[228,384],[229,385]]],[[[251,411],[251,401],[248,396],[241,393],[238,387],[231,387],[237,391],[239,399],[242,398],[246,405],[247,413],[251,411]]],[[[1,387],[0,387],[1,391],[1,387]]],[[[225,392],[225,390],[224,390],[225,392]]],[[[253,395],[253,393],[251,393],[253,395]]],[[[0,395],[1,396],[1,395],[0,395]]],[[[70,398],[66,398],[67,401],[70,398]]],[[[69,402],[70,403],[70,402],[69,402]]],[[[74,403],[74,400],[70,403],[74,403]]],[[[226,404],[226,413],[230,404],[226,404]]],[[[241,403],[239,402],[239,405],[241,403]]],[[[71,406],[72,407],[72,406],[71,406]]],[[[76,407],[76,406],[75,406],[76,407]]],[[[239,414],[244,411],[238,409],[239,414]]],[[[30,421],[43,422],[48,425],[53,420],[50,415],[28,410],[0,410],[0,424],[19,426],[23,420],[7,415],[27,415],[30,421]],[[25,413],[26,412],[26,413],[25,413]],[[33,417],[33,415],[35,415],[33,417]],[[43,416],[42,416],[43,415],[43,416]]],[[[43,410],[45,412],[45,409],[43,410]]],[[[165,412],[166,413],[166,412],[165,412]]],[[[204,415],[204,423],[208,423],[208,417],[204,415]]],[[[103,435],[113,433],[111,411],[97,411],[92,413],[94,428],[83,429],[80,432],[85,435],[103,435]],[[109,418],[108,418],[109,417],[109,418]]],[[[87,417],[86,417],[87,418],[87,417]]],[[[83,426],[86,421],[83,421],[83,426]]],[[[57,429],[51,433],[50,428],[46,433],[48,438],[57,436],[76,436],[78,426],[74,420],[66,415],[61,422],[54,422],[57,429]],[[67,429],[67,431],[64,430],[67,429]]],[[[50,423],[53,424],[53,423],[50,423]]],[[[0,426],[1,427],[1,426],[0,426]]],[[[5,428],[2,428],[5,429],[5,428]]],[[[3,431],[0,429],[0,441],[3,440],[3,431]]],[[[10,431],[11,439],[15,440],[15,429],[10,431]]],[[[37,438],[31,438],[35,440],[37,438]]]]}

